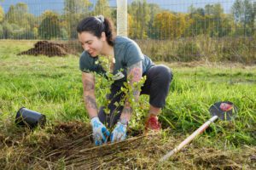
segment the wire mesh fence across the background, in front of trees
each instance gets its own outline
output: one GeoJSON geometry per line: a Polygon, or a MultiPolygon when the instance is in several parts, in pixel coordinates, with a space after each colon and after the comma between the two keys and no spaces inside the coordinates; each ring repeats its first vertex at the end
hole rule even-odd
{"type": "MultiPolygon", "coordinates": [[[[3,0],[0,38],[51,40],[80,52],[76,26],[102,14],[116,26],[116,0],[3,0]]],[[[254,0],[128,0],[128,37],[161,61],[256,63],[254,0]]]]}

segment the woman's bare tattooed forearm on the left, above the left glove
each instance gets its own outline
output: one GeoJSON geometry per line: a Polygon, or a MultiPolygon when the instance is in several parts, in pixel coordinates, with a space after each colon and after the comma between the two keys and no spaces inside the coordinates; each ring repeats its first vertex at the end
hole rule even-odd
{"type": "Polygon", "coordinates": [[[84,104],[88,111],[90,119],[98,115],[96,97],[95,97],[95,77],[91,73],[82,73],[82,82],[84,88],[84,104]]]}

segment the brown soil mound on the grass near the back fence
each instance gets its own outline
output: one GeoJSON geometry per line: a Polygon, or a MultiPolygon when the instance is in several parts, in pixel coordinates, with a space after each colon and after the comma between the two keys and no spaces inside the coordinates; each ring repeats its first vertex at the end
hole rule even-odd
{"type": "Polygon", "coordinates": [[[69,54],[68,51],[68,48],[64,44],[56,42],[39,41],[34,44],[34,48],[21,52],[18,55],[47,55],[49,57],[53,57],[67,55],[69,54]]]}

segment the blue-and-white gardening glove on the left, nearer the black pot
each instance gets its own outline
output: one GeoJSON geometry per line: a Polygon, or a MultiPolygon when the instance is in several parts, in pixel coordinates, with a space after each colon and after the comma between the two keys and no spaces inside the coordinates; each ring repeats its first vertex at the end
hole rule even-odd
{"type": "Polygon", "coordinates": [[[99,117],[94,117],[90,120],[92,126],[93,138],[96,145],[102,145],[102,143],[107,143],[107,138],[109,136],[109,131],[105,125],[100,122],[99,117]]]}

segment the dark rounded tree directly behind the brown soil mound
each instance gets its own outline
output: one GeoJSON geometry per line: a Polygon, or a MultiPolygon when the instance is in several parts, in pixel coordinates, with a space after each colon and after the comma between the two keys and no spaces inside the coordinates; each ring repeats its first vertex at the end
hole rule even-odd
{"type": "Polygon", "coordinates": [[[38,28],[38,35],[44,39],[60,37],[61,26],[58,14],[52,11],[46,11],[43,14],[43,18],[38,28]]]}

